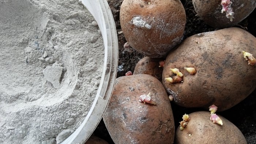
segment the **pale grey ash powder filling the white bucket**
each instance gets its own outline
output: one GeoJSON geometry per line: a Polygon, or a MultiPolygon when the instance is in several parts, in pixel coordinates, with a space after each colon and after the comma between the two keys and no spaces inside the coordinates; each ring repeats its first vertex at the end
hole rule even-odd
{"type": "Polygon", "coordinates": [[[97,93],[101,33],[77,0],[0,0],[0,143],[60,143],[97,93]]]}

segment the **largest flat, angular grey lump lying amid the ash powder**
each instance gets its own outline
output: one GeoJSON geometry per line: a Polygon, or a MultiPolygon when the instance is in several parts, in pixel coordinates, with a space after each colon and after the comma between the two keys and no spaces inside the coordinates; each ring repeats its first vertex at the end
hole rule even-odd
{"type": "Polygon", "coordinates": [[[62,74],[63,67],[51,67],[48,66],[43,70],[44,76],[46,80],[52,83],[54,88],[58,88],[60,86],[60,77],[62,74]]]}

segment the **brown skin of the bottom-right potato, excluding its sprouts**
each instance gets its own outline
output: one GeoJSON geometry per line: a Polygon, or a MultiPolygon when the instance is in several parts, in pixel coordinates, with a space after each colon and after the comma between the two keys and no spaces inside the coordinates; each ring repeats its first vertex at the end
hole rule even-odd
{"type": "Polygon", "coordinates": [[[188,125],[176,130],[175,144],[246,144],[242,132],[229,120],[218,115],[223,122],[218,125],[210,121],[210,116],[210,111],[189,114],[188,125]]]}

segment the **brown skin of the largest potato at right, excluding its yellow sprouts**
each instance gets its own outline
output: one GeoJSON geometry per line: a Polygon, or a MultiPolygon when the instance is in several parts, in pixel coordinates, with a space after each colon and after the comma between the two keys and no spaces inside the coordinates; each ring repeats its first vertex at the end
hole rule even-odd
{"type": "Polygon", "coordinates": [[[239,28],[193,35],[169,53],[162,82],[174,102],[184,107],[223,111],[245,99],[256,87],[256,65],[248,65],[242,50],[256,56],[256,38],[239,28]],[[198,44],[199,42],[199,44],[198,44]],[[194,67],[189,75],[184,67],[194,67]],[[170,68],[183,73],[183,83],[168,83],[170,68]]]}

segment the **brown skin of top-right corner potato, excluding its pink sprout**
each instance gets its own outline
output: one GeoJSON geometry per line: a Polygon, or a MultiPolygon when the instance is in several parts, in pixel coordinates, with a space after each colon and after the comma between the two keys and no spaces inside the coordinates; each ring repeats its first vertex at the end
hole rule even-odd
{"type": "Polygon", "coordinates": [[[251,14],[256,7],[255,0],[231,1],[231,7],[234,12],[234,19],[232,22],[226,17],[225,12],[221,13],[221,0],[192,0],[197,15],[199,15],[205,23],[215,28],[231,27],[238,24],[251,14]],[[243,7],[241,7],[242,4],[244,5],[243,7]]]}

